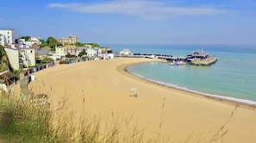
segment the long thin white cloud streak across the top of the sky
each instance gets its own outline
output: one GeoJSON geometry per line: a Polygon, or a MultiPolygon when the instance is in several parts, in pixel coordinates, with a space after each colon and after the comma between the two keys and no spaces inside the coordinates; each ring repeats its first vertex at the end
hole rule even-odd
{"type": "Polygon", "coordinates": [[[163,20],[173,16],[215,15],[225,12],[224,9],[212,7],[175,7],[154,0],[116,0],[104,3],[50,3],[49,8],[69,9],[91,14],[119,14],[137,16],[149,20],[163,20]]]}

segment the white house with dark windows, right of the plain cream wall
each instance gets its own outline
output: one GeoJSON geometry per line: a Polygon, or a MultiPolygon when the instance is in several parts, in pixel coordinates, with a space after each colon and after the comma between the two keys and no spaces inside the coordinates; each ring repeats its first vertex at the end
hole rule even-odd
{"type": "Polygon", "coordinates": [[[34,49],[32,49],[32,48],[22,48],[20,53],[21,53],[20,57],[22,59],[23,65],[25,67],[35,65],[34,49]]]}

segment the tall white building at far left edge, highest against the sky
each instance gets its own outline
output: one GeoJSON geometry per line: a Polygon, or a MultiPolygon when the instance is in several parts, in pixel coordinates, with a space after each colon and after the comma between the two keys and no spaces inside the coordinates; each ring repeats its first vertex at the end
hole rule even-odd
{"type": "Polygon", "coordinates": [[[15,44],[16,39],[18,39],[18,36],[15,30],[13,29],[0,30],[0,45],[9,46],[11,44],[15,44]]]}

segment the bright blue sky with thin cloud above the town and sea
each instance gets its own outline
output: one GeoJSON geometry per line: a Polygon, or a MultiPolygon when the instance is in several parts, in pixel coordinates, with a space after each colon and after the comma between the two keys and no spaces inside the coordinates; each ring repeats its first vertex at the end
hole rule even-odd
{"type": "Polygon", "coordinates": [[[256,45],[256,0],[0,0],[0,29],[99,44],[256,45]]]}

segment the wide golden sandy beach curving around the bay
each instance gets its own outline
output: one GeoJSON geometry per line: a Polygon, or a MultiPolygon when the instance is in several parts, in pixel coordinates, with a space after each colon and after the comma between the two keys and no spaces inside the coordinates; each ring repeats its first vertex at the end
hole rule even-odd
{"type": "Polygon", "coordinates": [[[143,129],[146,137],[161,134],[169,142],[255,142],[255,108],[167,88],[126,72],[128,65],[151,61],[156,60],[117,58],[56,65],[34,73],[36,80],[28,87],[47,93],[51,109],[66,100],[76,117],[83,110],[84,115],[103,120],[111,120],[113,114],[132,116],[132,126],[143,129]],[[138,97],[130,96],[134,88],[138,97]]]}

